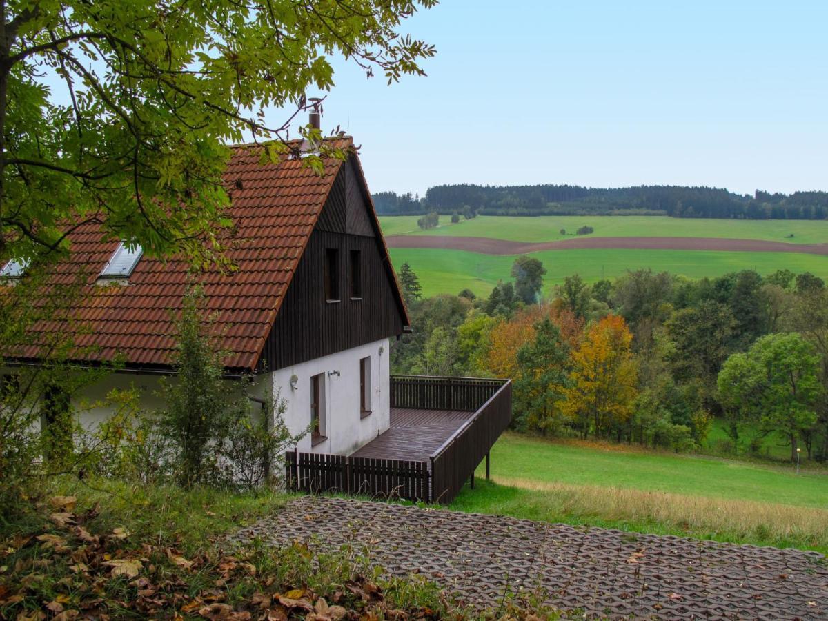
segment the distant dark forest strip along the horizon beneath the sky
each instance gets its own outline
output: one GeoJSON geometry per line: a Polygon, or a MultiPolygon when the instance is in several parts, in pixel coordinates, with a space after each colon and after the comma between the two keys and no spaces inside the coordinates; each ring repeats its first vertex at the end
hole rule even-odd
{"type": "Polygon", "coordinates": [[[828,192],[792,194],[756,190],[740,195],[721,188],[638,185],[586,188],[581,185],[436,185],[422,198],[411,192],[378,192],[381,215],[462,214],[468,206],[483,215],[668,215],[674,218],[806,219],[828,217],[828,192]]]}

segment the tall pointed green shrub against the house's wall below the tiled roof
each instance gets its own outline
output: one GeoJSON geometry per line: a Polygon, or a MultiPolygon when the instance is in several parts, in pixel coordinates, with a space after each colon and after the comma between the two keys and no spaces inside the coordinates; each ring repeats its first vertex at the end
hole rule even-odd
{"type": "Polygon", "coordinates": [[[230,386],[222,377],[224,354],[214,346],[210,319],[202,320],[203,296],[200,287],[185,295],[177,322],[177,373],[164,378],[159,392],[166,408],[157,416],[139,417],[137,448],[126,449],[127,470],[150,468],[158,479],[172,478],[185,488],[253,489],[281,473],[272,468],[274,457],[308,430],[291,435],[278,393],[252,399],[245,394],[248,380],[230,386]],[[262,406],[258,414],[254,402],[262,406]]]}

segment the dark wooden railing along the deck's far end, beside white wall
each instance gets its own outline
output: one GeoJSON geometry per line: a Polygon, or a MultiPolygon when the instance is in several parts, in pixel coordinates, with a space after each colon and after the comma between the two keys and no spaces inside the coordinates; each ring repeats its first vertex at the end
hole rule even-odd
{"type": "Polygon", "coordinates": [[[502,379],[392,375],[391,407],[476,412],[502,386],[502,379]]]}

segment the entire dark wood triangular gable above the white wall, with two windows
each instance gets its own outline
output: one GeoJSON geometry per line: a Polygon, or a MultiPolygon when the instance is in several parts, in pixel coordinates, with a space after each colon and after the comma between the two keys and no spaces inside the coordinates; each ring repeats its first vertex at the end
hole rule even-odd
{"type": "Polygon", "coordinates": [[[351,161],[339,171],[262,351],[277,369],[402,334],[397,301],[370,206],[351,161]],[[326,255],[338,254],[339,301],[325,300],[326,255]],[[350,257],[359,251],[362,297],[349,296],[350,257]]]}

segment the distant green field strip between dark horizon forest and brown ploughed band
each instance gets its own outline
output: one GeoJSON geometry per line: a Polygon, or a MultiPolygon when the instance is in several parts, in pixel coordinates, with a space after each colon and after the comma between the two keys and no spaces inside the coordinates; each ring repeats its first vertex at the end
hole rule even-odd
{"type": "Polygon", "coordinates": [[[380,223],[386,235],[458,235],[510,239],[517,242],[553,242],[571,238],[561,229],[575,233],[591,226],[591,237],[709,237],[762,239],[789,243],[828,243],[828,220],[728,220],[669,218],[667,216],[517,216],[481,215],[451,224],[440,216],[440,226],[422,231],[418,216],[383,216],[380,223]],[[789,238],[788,235],[793,235],[789,238]]]}

